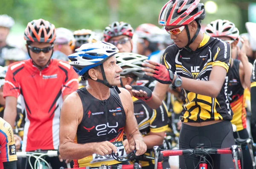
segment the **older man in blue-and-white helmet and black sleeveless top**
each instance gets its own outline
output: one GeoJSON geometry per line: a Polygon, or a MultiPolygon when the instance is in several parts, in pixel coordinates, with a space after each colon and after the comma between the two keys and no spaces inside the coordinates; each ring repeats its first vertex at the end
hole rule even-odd
{"type": "MultiPolygon", "coordinates": [[[[130,93],[120,85],[118,49],[107,42],[87,43],[68,56],[70,65],[88,80],[73,92],[61,109],[60,154],[74,159],[75,167],[121,163],[126,152],[142,155],[147,146],[138,130],[130,93]],[[123,146],[125,132],[129,149],[123,146]],[[116,154],[117,153],[117,154],[116,154]],[[121,157],[119,157],[121,156],[121,157]]],[[[128,159],[127,159],[128,163],[128,159]]]]}

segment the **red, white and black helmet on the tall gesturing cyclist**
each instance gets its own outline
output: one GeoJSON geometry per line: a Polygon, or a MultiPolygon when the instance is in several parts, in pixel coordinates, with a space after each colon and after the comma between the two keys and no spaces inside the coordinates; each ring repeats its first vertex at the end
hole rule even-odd
{"type": "Polygon", "coordinates": [[[204,4],[200,0],[170,0],[160,11],[158,23],[163,26],[187,25],[204,20],[204,4]]]}

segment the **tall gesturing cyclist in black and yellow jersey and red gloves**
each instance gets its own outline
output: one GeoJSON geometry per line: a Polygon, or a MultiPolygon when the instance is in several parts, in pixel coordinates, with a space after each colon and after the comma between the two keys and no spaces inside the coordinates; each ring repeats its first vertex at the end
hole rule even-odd
{"type": "MultiPolygon", "coordinates": [[[[215,148],[235,144],[227,87],[230,76],[230,45],[200,32],[205,17],[199,0],[170,0],[163,6],[159,24],[164,25],[175,44],[166,48],[162,65],[148,61],[146,74],[159,82],[150,97],[143,90],[132,90],[134,96],[158,107],[169,84],[181,87],[185,96],[180,130],[180,149],[198,144],[215,148]],[[174,73],[177,73],[174,74],[174,73]]],[[[130,86],[126,88],[131,90],[130,86]]],[[[212,156],[218,169],[233,169],[231,155],[212,156]]],[[[180,169],[194,169],[197,156],[180,156],[180,169]],[[186,160],[185,160],[186,159],[186,160]]]]}

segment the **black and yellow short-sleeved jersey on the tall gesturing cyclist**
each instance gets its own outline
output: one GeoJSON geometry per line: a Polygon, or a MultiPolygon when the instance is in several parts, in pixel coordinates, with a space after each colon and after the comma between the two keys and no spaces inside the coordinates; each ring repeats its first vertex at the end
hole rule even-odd
{"type": "Polygon", "coordinates": [[[224,84],[216,98],[182,89],[185,101],[181,121],[232,120],[233,112],[227,95],[230,59],[230,45],[206,34],[204,34],[204,39],[195,51],[178,48],[177,45],[166,48],[162,64],[172,72],[177,72],[177,75],[189,79],[208,81],[213,66],[221,66],[227,70],[224,84]]]}

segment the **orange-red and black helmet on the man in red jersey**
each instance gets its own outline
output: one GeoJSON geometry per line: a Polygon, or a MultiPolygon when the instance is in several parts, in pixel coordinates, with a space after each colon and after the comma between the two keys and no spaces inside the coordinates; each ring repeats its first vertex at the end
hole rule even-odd
{"type": "Polygon", "coordinates": [[[53,43],[55,37],[55,26],[43,19],[29,22],[24,32],[24,39],[32,42],[53,43]]]}

